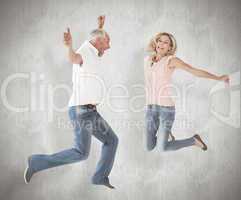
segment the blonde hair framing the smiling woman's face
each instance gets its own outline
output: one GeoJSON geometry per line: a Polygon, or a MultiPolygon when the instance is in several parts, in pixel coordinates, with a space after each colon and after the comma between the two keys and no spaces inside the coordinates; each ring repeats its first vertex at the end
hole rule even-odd
{"type": "Polygon", "coordinates": [[[163,35],[167,36],[170,40],[171,49],[168,51],[167,55],[174,55],[177,50],[177,42],[176,42],[176,39],[174,38],[174,36],[171,33],[167,33],[167,32],[160,32],[160,33],[156,34],[149,42],[147,51],[153,55],[156,55],[157,54],[156,43],[163,35]]]}

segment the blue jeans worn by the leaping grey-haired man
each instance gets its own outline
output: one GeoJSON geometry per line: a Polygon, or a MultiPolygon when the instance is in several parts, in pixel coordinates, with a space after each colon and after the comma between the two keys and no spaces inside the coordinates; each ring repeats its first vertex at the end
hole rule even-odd
{"type": "Polygon", "coordinates": [[[91,135],[94,135],[103,145],[101,158],[92,177],[92,183],[108,183],[108,176],[111,172],[118,146],[118,137],[95,108],[83,106],[69,107],[69,117],[74,127],[74,146],[51,155],[32,155],[30,157],[32,170],[38,172],[87,159],[90,152],[91,135]]]}

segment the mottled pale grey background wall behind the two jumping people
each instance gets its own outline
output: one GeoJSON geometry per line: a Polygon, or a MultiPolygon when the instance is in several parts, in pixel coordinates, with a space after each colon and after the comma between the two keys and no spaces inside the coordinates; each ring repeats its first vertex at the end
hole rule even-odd
{"type": "Polygon", "coordinates": [[[0,199],[240,199],[240,11],[238,0],[2,0],[0,199]],[[115,90],[106,93],[99,111],[120,139],[110,176],[117,190],[90,184],[101,147],[96,139],[85,162],[43,171],[25,185],[28,155],[72,145],[66,109],[71,64],[63,31],[71,28],[78,48],[103,13],[112,43],[103,58],[104,80],[108,90],[115,90]],[[229,91],[213,80],[174,74],[182,97],[177,98],[173,132],[177,138],[200,133],[207,152],[192,147],[162,153],[158,145],[152,152],[145,150],[144,48],[160,31],[175,35],[177,56],[186,62],[219,75],[232,74],[236,86],[229,91]],[[4,89],[16,73],[24,78],[12,79],[4,89]],[[214,87],[221,90],[213,92],[214,87]],[[9,109],[4,95],[10,105],[29,110],[9,109]],[[114,95],[119,97],[110,98],[114,95]]]}

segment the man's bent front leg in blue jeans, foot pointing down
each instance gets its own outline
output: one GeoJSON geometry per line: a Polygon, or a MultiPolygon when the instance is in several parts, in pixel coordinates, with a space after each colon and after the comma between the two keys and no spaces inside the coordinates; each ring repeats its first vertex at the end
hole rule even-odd
{"type": "Polygon", "coordinates": [[[115,135],[108,123],[97,113],[96,126],[93,135],[100,140],[102,145],[101,158],[97,164],[96,172],[92,177],[93,184],[113,186],[109,183],[109,174],[113,167],[116,149],[118,146],[118,137],[115,135]]]}

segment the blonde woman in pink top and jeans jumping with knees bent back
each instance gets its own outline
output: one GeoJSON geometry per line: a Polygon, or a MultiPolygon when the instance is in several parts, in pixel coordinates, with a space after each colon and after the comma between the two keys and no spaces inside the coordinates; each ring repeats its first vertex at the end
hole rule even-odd
{"type": "Polygon", "coordinates": [[[171,98],[171,78],[176,69],[185,70],[194,76],[229,83],[227,75],[217,76],[202,69],[192,67],[175,56],[176,40],[170,33],[158,33],[149,43],[152,54],[145,58],[144,72],[146,84],[146,144],[149,151],[157,143],[157,131],[162,128],[161,147],[163,151],[178,150],[197,146],[207,150],[207,145],[199,135],[175,140],[171,129],[175,120],[175,103],[171,98]],[[161,126],[161,127],[160,127],[161,126]],[[168,140],[171,137],[171,141],[168,140]]]}

